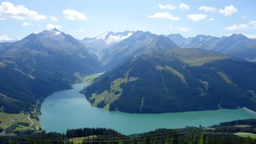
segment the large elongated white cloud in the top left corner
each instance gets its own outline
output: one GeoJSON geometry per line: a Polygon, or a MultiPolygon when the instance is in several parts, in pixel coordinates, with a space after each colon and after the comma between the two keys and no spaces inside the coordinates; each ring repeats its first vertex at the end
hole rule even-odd
{"type": "Polygon", "coordinates": [[[14,6],[10,2],[2,2],[0,5],[0,15],[19,20],[40,20],[46,18],[45,15],[38,15],[36,11],[30,11],[23,5],[14,6]]]}

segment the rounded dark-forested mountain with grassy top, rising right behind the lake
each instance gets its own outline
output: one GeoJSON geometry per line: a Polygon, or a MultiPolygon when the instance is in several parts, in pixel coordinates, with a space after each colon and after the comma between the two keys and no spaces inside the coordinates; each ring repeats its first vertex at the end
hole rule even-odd
{"type": "Polygon", "coordinates": [[[127,113],[256,110],[255,84],[256,63],[197,48],[167,49],[104,73],[84,94],[93,106],[127,113]]]}

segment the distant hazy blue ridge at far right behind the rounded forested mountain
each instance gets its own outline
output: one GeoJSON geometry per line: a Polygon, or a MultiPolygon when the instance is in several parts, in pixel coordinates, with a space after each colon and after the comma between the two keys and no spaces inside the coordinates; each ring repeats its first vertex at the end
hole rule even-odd
{"type": "Polygon", "coordinates": [[[253,48],[256,46],[256,41],[245,37],[243,34],[232,34],[229,37],[221,38],[201,34],[187,39],[180,34],[170,34],[168,38],[182,48],[202,48],[240,59],[256,60],[256,53],[253,48]]]}

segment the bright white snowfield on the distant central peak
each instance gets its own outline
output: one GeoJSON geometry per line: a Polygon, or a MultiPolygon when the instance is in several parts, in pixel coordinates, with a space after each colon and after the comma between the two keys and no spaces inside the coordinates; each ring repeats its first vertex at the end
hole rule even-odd
{"type": "Polygon", "coordinates": [[[95,40],[102,39],[107,44],[112,44],[116,42],[120,42],[128,37],[130,37],[134,31],[124,31],[124,32],[104,32],[102,35],[99,35],[98,37],[95,37],[95,40]]]}

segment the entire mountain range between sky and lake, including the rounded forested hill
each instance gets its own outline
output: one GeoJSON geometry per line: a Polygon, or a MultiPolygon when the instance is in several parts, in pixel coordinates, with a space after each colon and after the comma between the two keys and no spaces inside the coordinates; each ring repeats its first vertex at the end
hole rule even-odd
{"type": "MultiPolygon", "coordinates": [[[[168,113],[256,110],[256,40],[143,31],[77,40],[57,30],[0,43],[2,112],[31,112],[53,92],[105,72],[85,89],[109,111],[168,113]]],[[[38,110],[37,109],[37,110],[38,110]]]]}

